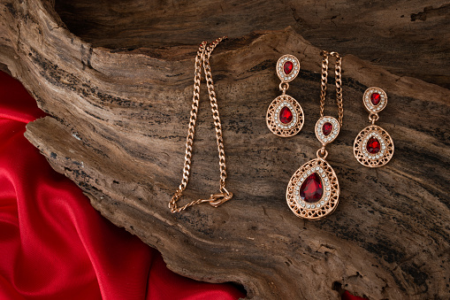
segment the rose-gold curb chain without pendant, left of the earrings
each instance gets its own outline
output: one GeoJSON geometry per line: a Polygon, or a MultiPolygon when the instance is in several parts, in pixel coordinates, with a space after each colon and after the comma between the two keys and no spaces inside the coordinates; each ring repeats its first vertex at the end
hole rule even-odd
{"type": "Polygon", "coordinates": [[[233,193],[228,192],[225,188],[226,179],[226,165],[225,165],[225,148],[224,148],[224,138],[222,135],[222,125],[220,123],[220,116],[218,113],[216,92],[214,91],[214,82],[212,81],[211,67],[210,67],[210,55],[212,51],[216,48],[219,42],[222,42],[226,37],[219,37],[216,41],[211,42],[207,46],[207,42],[202,42],[200,44],[199,50],[197,51],[197,56],[195,57],[195,72],[194,72],[194,96],[192,97],[192,110],[191,117],[189,119],[189,127],[187,129],[186,138],[186,155],[185,163],[183,167],[183,179],[179,188],[172,196],[172,200],[169,202],[169,208],[171,212],[181,212],[187,209],[187,207],[202,204],[208,202],[210,205],[217,207],[220,204],[225,203],[233,197],[233,193]],[[208,86],[208,93],[210,95],[210,104],[212,111],[212,118],[214,119],[214,128],[216,129],[216,139],[217,139],[217,150],[220,166],[220,192],[217,194],[210,195],[209,199],[198,199],[192,201],[184,206],[179,207],[177,202],[182,196],[183,191],[187,187],[187,181],[189,181],[189,174],[191,171],[191,159],[192,159],[192,148],[194,146],[194,133],[195,125],[197,121],[198,104],[200,100],[200,81],[202,77],[202,66],[205,73],[206,85],[208,86]]]}

